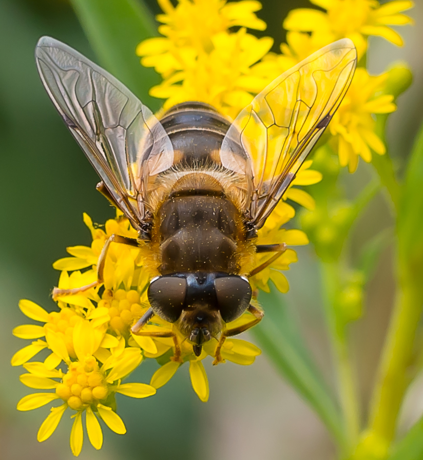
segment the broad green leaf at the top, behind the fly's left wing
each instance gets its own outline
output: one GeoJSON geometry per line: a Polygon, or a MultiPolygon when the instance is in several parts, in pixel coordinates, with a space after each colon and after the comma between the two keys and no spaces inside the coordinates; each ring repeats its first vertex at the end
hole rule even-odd
{"type": "Polygon", "coordinates": [[[100,65],[155,111],[161,103],[148,91],[159,75],[140,64],[135,48],[157,35],[156,23],[142,0],[71,0],[100,65]]]}

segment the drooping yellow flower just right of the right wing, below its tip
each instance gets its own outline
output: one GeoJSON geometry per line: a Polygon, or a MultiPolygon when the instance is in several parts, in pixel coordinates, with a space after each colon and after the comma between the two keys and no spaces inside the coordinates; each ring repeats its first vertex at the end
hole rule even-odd
{"type": "Polygon", "coordinates": [[[348,165],[350,172],[356,170],[359,156],[370,162],[371,149],[378,155],[386,151],[374,132],[376,122],[372,113],[396,110],[393,95],[378,95],[387,78],[387,73],[371,76],[365,69],[358,68],[347,95],[329,124],[333,136],[330,142],[338,151],[339,163],[341,166],[348,165]]]}

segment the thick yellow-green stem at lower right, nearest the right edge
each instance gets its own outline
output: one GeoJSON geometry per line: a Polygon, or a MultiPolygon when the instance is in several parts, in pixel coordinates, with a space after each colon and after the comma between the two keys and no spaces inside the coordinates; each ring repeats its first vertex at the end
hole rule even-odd
{"type": "Polygon", "coordinates": [[[418,280],[401,278],[370,413],[371,432],[387,445],[394,436],[398,411],[410,382],[414,338],[423,309],[418,280]]]}

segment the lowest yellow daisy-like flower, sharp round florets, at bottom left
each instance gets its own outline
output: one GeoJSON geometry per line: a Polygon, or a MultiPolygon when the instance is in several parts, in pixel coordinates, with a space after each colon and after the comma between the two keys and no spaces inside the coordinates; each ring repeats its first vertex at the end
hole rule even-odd
{"type": "Polygon", "coordinates": [[[144,398],[156,393],[156,389],[146,384],[121,384],[121,379],[139,366],[142,355],[139,348],[124,348],[116,338],[109,340],[114,347],[109,358],[100,366],[93,356],[98,350],[98,336],[89,321],[79,322],[73,334],[76,361],[71,361],[67,349],[59,337],[54,336],[52,346],[57,355],[66,363],[68,370],[48,369],[42,362],[24,365],[28,374],[21,375],[24,385],[34,389],[54,389],[54,393],[33,393],[22,398],[17,409],[27,411],[42,407],[55,399],[64,404],[51,409],[37,434],[43,442],[56,429],[67,408],[76,411],[70,434],[70,446],[74,455],[79,455],[83,443],[82,415],[85,412],[88,438],[95,449],[103,444],[103,434],[98,421],[114,432],[124,434],[125,425],[119,415],[112,410],[114,394],[121,393],[135,398],[144,398]]]}

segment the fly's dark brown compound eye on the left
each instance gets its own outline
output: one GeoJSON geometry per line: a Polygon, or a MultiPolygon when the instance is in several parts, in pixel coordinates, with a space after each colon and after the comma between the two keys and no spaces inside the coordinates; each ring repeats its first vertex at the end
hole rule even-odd
{"type": "Polygon", "coordinates": [[[169,322],[175,322],[181,316],[185,296],[185,278],[161,276],[148,286],[147,297],[153,312],[169,322]]]}

